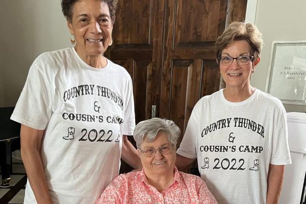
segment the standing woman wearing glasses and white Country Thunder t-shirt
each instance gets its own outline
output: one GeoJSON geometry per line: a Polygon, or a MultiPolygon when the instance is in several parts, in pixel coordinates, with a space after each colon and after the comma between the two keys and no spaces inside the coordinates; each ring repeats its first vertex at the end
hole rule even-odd
{"type": "Polygon", "coordinates": [[[216,41],[225,88],[198,101],[177,149],[176,166],[197,159],[220,204],[277,203],[291,163],[284,106],[250,85],[262,47],[253,24],[228,25],[216,41]]]}

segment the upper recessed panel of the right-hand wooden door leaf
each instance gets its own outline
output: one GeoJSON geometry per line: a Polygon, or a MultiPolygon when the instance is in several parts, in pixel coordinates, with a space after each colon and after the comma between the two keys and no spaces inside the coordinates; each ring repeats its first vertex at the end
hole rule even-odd
{"type": "Polygon", "coordinates": [[[177,0],[173,48],[214,47],[225,28],[227,0],[177,0]]]}

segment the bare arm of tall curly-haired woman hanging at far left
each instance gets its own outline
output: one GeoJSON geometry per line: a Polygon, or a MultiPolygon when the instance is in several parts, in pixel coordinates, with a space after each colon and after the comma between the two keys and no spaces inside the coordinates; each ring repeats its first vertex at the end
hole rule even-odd
{"type": "Polygon", "coordinates": [[[53,203],[46,183],[40,149],[43,130],[21,125],[21,158],[37,203],[53,203]]]}

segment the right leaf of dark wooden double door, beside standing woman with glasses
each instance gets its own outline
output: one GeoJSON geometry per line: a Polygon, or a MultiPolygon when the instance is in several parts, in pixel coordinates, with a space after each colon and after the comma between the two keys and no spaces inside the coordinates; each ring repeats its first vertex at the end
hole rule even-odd
{"type": "Polygon", "coordinates": [[[165,1],[160,117],[179,125],[182,131],[179,144],[196,102],[219,90],[215,41],[229,22],[243,20],[246,3],[246,0],[165,1]]]}

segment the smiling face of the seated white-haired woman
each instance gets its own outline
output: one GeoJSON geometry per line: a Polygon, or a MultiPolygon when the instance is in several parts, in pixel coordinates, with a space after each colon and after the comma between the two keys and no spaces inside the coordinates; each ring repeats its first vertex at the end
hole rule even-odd
{"type": "MultiPolygon", "coordinates": [[[[160,131],[153,142],[143,142],[140,148],[145,151],[150,148],[171,147],[171,145],[168,136],[160,131]]],[[[176,158],[175,147],[172,147],[172,151],[167,155],[162,155],[157,150],[154,157],[145,157],[139,149],[138,152],[146,176],[173,174],[176,158]]]]}

